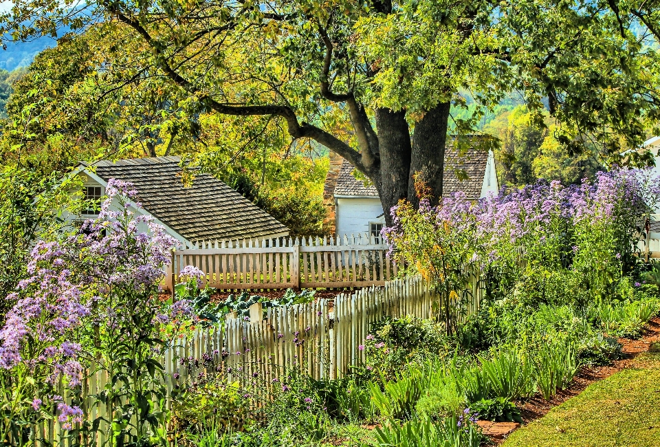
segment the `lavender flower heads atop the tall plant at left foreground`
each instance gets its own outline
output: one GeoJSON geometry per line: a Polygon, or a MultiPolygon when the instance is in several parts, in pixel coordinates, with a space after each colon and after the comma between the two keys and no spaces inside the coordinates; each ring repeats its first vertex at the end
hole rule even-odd
{"type": "MultiPolygon", "coordinates": [[[[84,232],[36,243],[27,266],[29,276],[9,297],[17,304],[0,329],[0,367],[10,375],[32,378],[19,383],[42,387],[13,390],[25,393],[33,411],[43,403],[34,394],[44,392],[46,384],[54,385],[61,377],[69,386],[80,384],[84,368],[79,343],[85,338],[78,329],[91,323],[91,318],[109,331],[122,322],[132,324],[121,302],[108,298],[111,293],[138,296],[146,292],[143,295],[151,298],[141,306],[162,308],[155,293],[157,283],[170,262],[170,250],[178,243],[151,217],[141,214],[136,194],[131,184],[111,179],[98,218],[86,221],[84,232]]],[[[157,312],[155,319],[171,320],[190,310],[190,302],[179,301],[157,312]]],[[[49,400],[59,402],[63,428],[82,420],[80,408],[68,406],[61,398],[49,400]]]]}

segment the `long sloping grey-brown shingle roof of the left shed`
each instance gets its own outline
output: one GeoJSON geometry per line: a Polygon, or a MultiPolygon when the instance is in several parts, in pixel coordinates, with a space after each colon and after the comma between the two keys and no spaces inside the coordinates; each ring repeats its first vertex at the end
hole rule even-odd
{"type": "Polygon", "coordinates": [[[102,161],[96,175],[131,182],[142,206],[188,241],[266,237],[289,229],[208,174],[181,182],[179,157],[102,161]]]}

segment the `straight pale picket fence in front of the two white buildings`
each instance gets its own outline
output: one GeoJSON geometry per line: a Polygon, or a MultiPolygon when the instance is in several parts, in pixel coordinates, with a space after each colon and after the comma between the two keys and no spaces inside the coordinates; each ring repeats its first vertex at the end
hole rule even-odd
{"type": "Polygon", "coordinates": [[[388,249],[373,235],[199,241],[173,252],[166,287],[172,290],[186,265],[223,290],[384,285],[397,275],[388,249]]]}

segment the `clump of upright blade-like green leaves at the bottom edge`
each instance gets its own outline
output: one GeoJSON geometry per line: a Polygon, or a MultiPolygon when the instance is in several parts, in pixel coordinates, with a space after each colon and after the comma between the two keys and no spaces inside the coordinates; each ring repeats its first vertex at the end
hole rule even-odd
{"type": "Polygon", "coordinates": [[[404,424],[391,421],[375,428],[377,447],[478,447],[483,439],[481,431],[461,417],[447,417],[440,421],[413,418],[404,424]]]}

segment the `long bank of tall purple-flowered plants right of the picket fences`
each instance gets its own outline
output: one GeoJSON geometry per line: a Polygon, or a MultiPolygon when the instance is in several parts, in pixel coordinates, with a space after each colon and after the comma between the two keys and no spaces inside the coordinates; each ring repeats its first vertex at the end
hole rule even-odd
{"type": "Polygon", "coordinates": [[[486,280],[490,297],[502,298],[530,275],[544,293],[547,279],[568,269],[588,297],[612,296],[635,263],[641,223],[659,199],[660,179],[636,169],[568,188],[539,182],[478,203],[456,194],[430,206],[422,193],[419,210],[405,202],[392,209],[395,225],[383,235],[391,256],[437,286],[449,327],[473,275],[486,280]]]}

